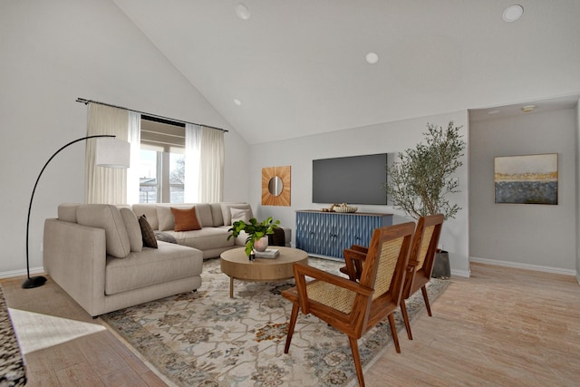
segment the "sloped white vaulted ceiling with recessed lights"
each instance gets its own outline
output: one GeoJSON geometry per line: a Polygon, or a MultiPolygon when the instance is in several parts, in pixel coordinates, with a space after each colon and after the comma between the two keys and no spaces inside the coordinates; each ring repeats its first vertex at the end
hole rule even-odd
{"type": "Polygon", "coordinates": [[[580,92],[578,0],[113,1],[252,144],[580,92]]]}

